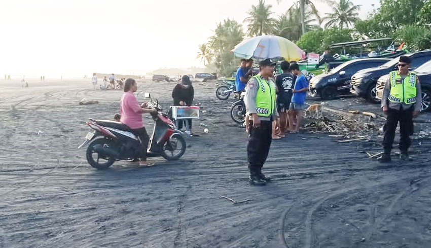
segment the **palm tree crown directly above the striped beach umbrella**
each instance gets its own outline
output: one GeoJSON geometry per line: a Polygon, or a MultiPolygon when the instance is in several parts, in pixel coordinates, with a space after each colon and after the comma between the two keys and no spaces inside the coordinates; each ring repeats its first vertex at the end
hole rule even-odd
{"type": "Polygon", "coordinates": [[[244,19],[248,23],[247,32],[249,36],[261,36],[262,34],[271,33],[274,19],[270,16],[273,12],[270,11],[272,5],[265,5],[265,0],[259,0],[259,5],[252,5],[247,14],[249,17],[244,19]]]}

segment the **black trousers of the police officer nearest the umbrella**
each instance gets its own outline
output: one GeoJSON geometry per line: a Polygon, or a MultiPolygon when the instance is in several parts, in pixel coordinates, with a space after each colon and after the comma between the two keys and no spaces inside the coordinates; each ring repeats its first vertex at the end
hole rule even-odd
{"type": "Polygon", "coordinates": [[[247,161],[250,173],[261,172],[271,147],[271,134],[271,121],[261,121],[258,128],[253,127],[253,121],[248,123],[247,161]]]}

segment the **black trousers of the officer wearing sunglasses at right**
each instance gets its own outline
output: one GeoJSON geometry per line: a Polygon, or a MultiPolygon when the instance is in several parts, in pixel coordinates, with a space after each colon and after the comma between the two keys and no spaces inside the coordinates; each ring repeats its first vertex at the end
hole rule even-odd
{"type": "Polygon", "coordinates": [[[395,138],[395,130],[400,122],[400,151],[407,153],[410,147],[410,135],[413,134],[413,110],[388,110],[383,138],[383,149],[385,153],[390,153],[392,150],[393,139],[395,138]]]}

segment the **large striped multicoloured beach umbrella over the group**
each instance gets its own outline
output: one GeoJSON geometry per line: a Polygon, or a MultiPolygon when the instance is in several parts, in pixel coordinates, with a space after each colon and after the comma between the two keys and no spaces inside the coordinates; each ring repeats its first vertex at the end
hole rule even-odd
{"type": "Polygon", "coordinates": [[[286,61],[305,59],[305,52],[295,43],[279,36],[257,36],[242,41],[232,49],[238,58],[278,58],[286,61]]]}

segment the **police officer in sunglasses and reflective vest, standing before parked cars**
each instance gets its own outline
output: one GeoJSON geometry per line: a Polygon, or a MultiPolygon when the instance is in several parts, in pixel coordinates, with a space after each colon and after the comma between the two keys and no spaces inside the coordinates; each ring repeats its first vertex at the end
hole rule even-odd
{"type": "Polygon", "coordinates": [[[419,79],[416,74],[409,72],[410,58],[401,56],[398,62],[398,71],[390,72],[383,95],[382,109],[387,115],[383,138],[384,153],[378,158],[379,162],[390,162],[390,151],[397,124],[400,122],[400,159],[409,160],[410,135],[413,134],[413,118],[421,110],[422,95],[419,79]]]}

